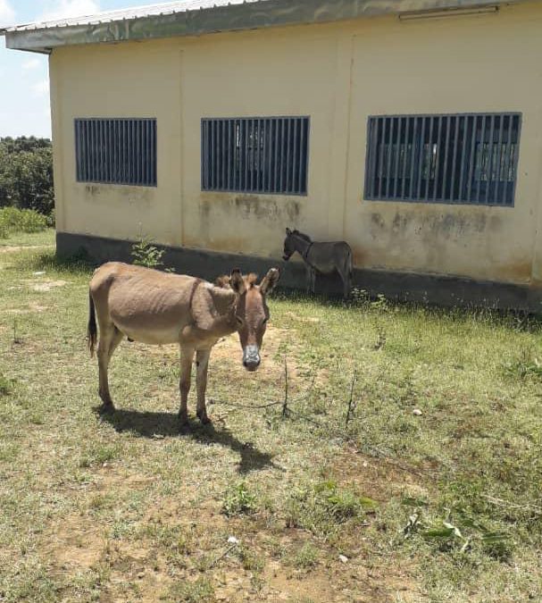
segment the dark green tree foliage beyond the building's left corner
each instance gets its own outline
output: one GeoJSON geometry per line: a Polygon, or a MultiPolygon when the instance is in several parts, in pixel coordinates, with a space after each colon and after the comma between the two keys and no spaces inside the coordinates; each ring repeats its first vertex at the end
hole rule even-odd
{"type": "Polygon", "coordinates": [[[52,214],[53,148],[48,138],[0,138],[0,206],[52,214]]]}

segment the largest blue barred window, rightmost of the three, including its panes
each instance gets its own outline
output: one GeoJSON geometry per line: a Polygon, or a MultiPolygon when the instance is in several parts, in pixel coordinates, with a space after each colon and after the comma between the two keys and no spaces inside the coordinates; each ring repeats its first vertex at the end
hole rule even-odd
{"type": "Polygon", "coordinates": [[[513,205],[520,113],[370,117],[365,198],[513,205]]]}

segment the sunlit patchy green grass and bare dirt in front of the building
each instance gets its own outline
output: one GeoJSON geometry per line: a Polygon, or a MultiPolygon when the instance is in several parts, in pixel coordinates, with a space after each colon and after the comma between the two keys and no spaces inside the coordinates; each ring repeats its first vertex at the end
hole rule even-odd
{"type": "Polygon", "coordinates": [[[98,419],[89,276],[0,253],[0,600],[542,600],[538,320],[279,294],[179,434],[175,348],[123,342],[98,419]]]}

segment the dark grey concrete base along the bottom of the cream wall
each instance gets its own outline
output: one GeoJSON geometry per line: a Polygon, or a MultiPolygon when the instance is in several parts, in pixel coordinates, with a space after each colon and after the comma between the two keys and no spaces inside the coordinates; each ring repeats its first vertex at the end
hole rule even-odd
{"type": "MultiPolygon", "coordinates": [[[[56,233],[57,254],[60,257],[85,254],[96,264],[108,261],[130,262],[133,241],[104,239],[70,232],[56,233]]],[[[239,268],[242,272],[257,272],[263,276],[271,267],[282,271],[280,286],[304,289],[304,265],[272,258],[226,254],[187,247],[164,247],[163,263],[179,273],[192,274],[213,281],[221,274],[239,268]]],[[[436,304],[438,306],[477,306],[515,309],[539,314],[542,312],[542,289],[526,286],[474,281],[457,277],[411,272],[388,272],[354,269],[354,287],[371,296],[382,294],[404,301],[436,304]]],[[[316,292],[340,295],[341,281],[337,277],[317,277],[316,292]]]]}

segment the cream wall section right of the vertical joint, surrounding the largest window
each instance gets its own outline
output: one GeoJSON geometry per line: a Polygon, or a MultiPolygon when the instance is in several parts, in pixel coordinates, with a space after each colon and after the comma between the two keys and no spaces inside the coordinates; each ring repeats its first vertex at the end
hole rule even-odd
{"type": "Polygon", "coordinates": [[[354,37],[345,237],[356,264],[529,282],[540,201],[542,10],[483,18],[365,21],[354,37]],[[522,115],[511,207],[362,200],[371,114],[511,112],[522,115]]]}

